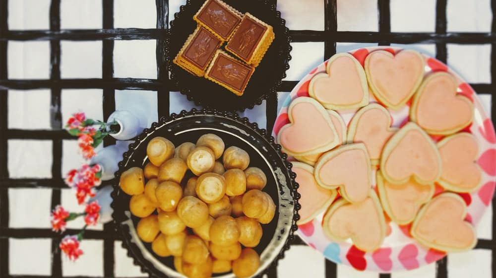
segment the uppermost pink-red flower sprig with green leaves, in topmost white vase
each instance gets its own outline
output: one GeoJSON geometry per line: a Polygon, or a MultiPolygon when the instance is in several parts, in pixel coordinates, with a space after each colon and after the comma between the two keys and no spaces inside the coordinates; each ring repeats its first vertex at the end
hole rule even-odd
{"type": "Polygon", "coordinates": [[[95,148],[115,130],[107,131],[107,127],[118,125],[117,122],[104,123],[99,120],[87,119],[84,112],[74,113],[67,120],[65,129],[72,136],[79,137],[77,142],[85,159],[90,159],[96,152],[95,148]]]}

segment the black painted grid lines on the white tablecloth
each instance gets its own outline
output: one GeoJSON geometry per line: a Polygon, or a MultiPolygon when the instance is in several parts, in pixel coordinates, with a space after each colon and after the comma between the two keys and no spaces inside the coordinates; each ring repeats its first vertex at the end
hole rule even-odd
{"type": "MultiPolygon", "coordinates": [[[[280,0],[282,1],[282,0],[280,0]]],[[[8,239],[9,238],[52,238],[52,276],[62,277],[61,253],[58,244],[62,236],[53,233],[50,229],[37,228],[9,228],[9,200],[8,188],[51,188],[52,208],[61,202],[61,189],[65,188],[61,176],[62,139],[74,139],[62,130],[61,90],[64,88],[101,88],[103,89],[103,115],[106,119],[115,110],[115,90],[137,89],[157,91],[159,117],[169,115],[169,92],[176,91],[171,82],[165,61],[164,46],[167,41],[169,22],[169,1],[156,0],[157,23],[155,29],[114,29],[114,0],[103,2],[103,29],[101,30],[63,30],[60,29],[61,0],[52,0],[50,7],[50,30],[23,30],[10,31],[7,26],[8,0],[0,0],[0,277],[16,277],[9,274],[8,239]],[[157,79],[114,78],[113,52],[114,40],[149,40],[157,42],[157,79]],[[50,40],[50,79],[49,80],[9,80],[7,79],[7,41],[50,40]],[[103,60],[102,78],[90,79],[61,79],[61,40],[102,40],[103,60]],[[7,125],[7,89],[39,89],[51,90],[50,121],[52,130],[18,130],[8,129],[7,125]],[[53,165],[51,179],[10,179],[7,171],[7,140],[8,139],[49,139],[53,142],[53,165]]],[[[276,5],[277,0],[270,0],[276,5]]],[[[378,0],[378,31],[377,32],[350,32],[337,31],[337,4],[336,0],[324,0],[324,30],[292,30],[292,42],[324,42],[324,60],[336,53],[337,42],[378,43],[378,45],[399,44],[435,44],[436,58],[444,63],[447,60],[447,43],[455,44],[491,44],[492,62],[496,61],[496,0],[492,0],[492,31],[490,33],[454,33],[446,32],[446,0],[436,1],[436,20],[434,33],[393,33],[390,28],[389,0],[378,0]]],[[[287,19],[291,20],[291,19],[287,19]]],[[[471,84],[479,94],[496,92],[496,63],[491,64],[491,84],[471,84]]],[[[289,92],[297,81],[283,81],[279,91],[289,92]]],[[[271,133],[277,116],[277,96],[270,96],[266,101],[267,130],[271,133]]],[[[496,122],[496,95],[492,98],[492,119],[496,122]]],[[[105,144],[113,144],[113,139],[106,139],[105,144]]],[[[110,184],[112,181],[104,183],[110,184]]],[[[493,208],[496,208],[496,199],[493,199],[493,208]]],[[[493,213],[493,239],[496,239],[496,213],[493,213]]],[[[66,233],[74,234],[76,230],[68,229],[66,233]]],[[[115,233],[112,223],[106,224],[103,231],[88,230],[85,238],[101,239],[104,241],[104,276],[114,277],[114,242],[120,240],[115,233]]],[[[305,244],[299,237],[294,245],[305,244]]],[[[496,244],[490,240],[479,240],[476,248],[488,249],[493,253],[496,244]]],[[[496,260],[492,259],[493,277],[496,277],[496,260]]],[[[325,262],[326,277],[337,276],[337,267],[330,261],[325,262]]],[[[277,277],[277,269],[269,270],[270,278],[277,277]]],[[[380,278],[388,278],[389,274],[380,274],[380,278]]],[[[43,277],[43,276],[35,276],[43,277]]],[[[447,259],[436,263],[436,277],[446,278],[447,259]]]]}

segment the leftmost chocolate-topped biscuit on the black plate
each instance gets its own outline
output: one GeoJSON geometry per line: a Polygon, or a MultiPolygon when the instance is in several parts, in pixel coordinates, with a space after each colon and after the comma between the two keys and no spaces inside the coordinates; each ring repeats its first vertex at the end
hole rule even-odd
{"type": "Polygon", "coordinates": [[[219,38],[200,26],[189,36],[173,62],[185,70],[202,76],[221,44],[219,38]]]}

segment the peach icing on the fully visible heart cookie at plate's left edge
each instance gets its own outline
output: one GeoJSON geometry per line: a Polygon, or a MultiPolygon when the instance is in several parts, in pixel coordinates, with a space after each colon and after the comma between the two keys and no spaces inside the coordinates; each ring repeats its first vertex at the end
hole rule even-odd
{"type": "Polygon", "coordinates": [[[311,103],[297,103],[291,113],[294,123],[281,131],[280,143],[285,148],[305,152],[334,140],[332,127],[311,103]]]}

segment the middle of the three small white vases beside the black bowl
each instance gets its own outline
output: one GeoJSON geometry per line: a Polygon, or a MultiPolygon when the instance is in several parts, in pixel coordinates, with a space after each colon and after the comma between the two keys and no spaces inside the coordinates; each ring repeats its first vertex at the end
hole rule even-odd
{"type": "Polygon", "coordinates": [[[102,167],[103,181],[111,180],[119,170],[119,161],[123,160],[123,153],[127,150],[130,141],[117,141],[115,145],[106,146],[97,151],[90,160],[90,165],[99,164],[102,167]]]}

